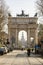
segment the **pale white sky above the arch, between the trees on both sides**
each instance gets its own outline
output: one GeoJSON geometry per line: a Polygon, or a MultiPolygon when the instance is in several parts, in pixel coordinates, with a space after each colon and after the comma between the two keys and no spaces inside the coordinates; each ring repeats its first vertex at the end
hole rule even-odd
{"type": "Polygon", "coordinates": [[[36,12],[35,1],[36,0],[5,0],[11,14],[16,16],[20,14],[21,10],[24,10],[25,13],[29,16],[34,16],[36,12]]]}

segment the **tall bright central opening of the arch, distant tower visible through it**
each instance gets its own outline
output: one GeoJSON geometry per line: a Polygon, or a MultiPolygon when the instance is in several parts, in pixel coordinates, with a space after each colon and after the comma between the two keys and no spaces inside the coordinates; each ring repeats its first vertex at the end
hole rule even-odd
{"type": "Polygon", "coordinates": [[[19,47],[27,47],[27,32],[24,30],[19,31],[18,33],[18,44],[19,47]]]}

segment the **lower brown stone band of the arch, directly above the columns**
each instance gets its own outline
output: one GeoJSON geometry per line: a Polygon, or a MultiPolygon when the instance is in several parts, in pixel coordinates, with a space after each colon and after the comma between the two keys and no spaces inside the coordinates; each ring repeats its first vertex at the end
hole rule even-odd
{"type": "Polygon", "coordinates": [[[9,28],[37,28],[38,24],[15,24],[15,25],[9,25],[9,28]]]}

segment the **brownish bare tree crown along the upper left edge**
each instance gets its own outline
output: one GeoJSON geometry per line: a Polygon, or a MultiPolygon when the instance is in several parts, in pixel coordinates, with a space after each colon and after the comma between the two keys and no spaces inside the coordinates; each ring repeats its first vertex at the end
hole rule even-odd
{"type": "Polygon", "coordinates": [[[8,7],[5,0],[0,0],[0,27],[3,29],[8,22],[8,7]]]}

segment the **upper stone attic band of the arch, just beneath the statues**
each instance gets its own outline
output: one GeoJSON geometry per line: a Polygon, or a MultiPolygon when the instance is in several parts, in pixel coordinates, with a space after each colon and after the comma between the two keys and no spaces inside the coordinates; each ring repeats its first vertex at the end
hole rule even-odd
{"type": "Polygon", "coordinates": [[[28,18],[9,18],[9,24],[37,24],[37,18],[28,17],[28,18]]]}

